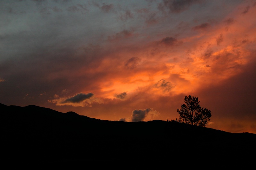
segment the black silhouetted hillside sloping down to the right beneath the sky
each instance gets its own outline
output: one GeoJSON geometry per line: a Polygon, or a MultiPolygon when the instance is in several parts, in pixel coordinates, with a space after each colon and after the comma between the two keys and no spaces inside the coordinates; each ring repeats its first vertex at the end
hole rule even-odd
{"type": "Polygon", "coordinates": [[[4,161],[172,165],[189,160],[193,167],[205,162],[246,166],[256,160],[256,134],[251,133],[160,120],[104,121],[33,105],[0,104],[0,110],[4,161]]]}

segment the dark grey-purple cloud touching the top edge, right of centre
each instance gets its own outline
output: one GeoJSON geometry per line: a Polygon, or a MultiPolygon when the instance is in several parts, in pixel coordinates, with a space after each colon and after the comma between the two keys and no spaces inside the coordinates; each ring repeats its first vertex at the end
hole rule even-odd
{"type": "Polygon", "coordinates": [[[158,4],[158,8],[162,11],[167,9],[171,13],[179,13],[188,10],[191,5],[201,2],[202,0],[163,0],[158,4]]]}

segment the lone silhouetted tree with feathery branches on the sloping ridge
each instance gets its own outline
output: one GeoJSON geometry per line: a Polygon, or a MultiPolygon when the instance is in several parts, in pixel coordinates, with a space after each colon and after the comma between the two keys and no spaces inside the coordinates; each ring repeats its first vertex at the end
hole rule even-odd
{"type": "MultiPolygon", "coordinates": [[[[197,126],[205,127],[210,119],[211,111],[199,105],[198,97],[185,96],[185,104],[181,105],[181,109],[177,109],[180,118],[172,120],[172,122],[181,122],[197,126]]],[[[167,120],[168,121],[168,120],[167,120]]],[[[170,122],[170,121],[169,121],[170,122]]]]}

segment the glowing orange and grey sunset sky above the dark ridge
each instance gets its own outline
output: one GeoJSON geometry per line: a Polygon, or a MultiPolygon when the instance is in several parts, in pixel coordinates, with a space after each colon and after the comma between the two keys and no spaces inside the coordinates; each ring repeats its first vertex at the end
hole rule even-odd
{"type": "Polygon", "coordinates": [[[256,0],[1,0],[0,103],[256,134],[256,0]]]}

